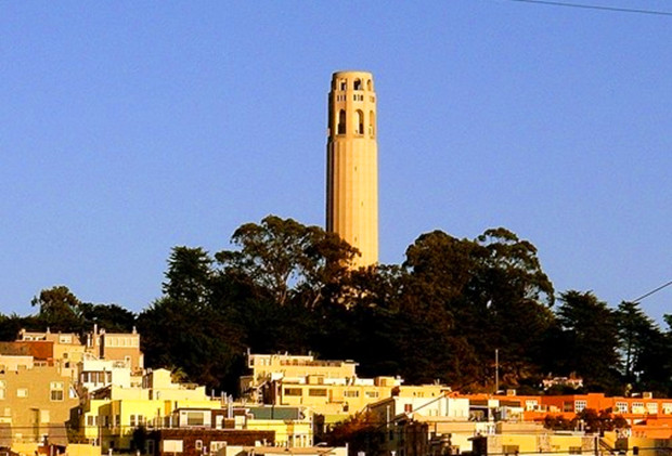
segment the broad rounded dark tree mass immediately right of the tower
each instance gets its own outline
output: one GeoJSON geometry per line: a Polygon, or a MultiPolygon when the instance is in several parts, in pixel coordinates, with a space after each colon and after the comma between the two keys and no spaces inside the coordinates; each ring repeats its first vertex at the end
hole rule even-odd
{"type": "Polygon", "coordinates": [[[553,285],[531,243],[501,227],[475,240],[434,231],[409,247],[403,266],[408,360],[423,362],[412,370],[453,386],[491,388],[499,349],[509,385],[534,374],[553,323],[553,285]]]}

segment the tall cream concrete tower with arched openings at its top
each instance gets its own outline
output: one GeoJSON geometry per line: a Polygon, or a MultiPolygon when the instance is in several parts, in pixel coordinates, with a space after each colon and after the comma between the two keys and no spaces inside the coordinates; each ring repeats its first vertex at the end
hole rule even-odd
{"type": "Polygon", "coordinates": [[[373,76],[332,76],[326,143],[326,230],[357,247],[354,266],[378,262],[378,145],[373,76]]]}

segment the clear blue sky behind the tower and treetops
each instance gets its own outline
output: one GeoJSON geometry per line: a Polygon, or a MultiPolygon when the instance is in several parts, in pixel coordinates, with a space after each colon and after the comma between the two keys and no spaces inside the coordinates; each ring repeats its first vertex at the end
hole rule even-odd
{"type": "Polygon", "coordinates": [[[507,0],[0,1],[0,311],[61,284],[140,311],[173,246],[323,225],[341,69],[376,81],[383,262],[505,226],[618,305],[672,279],[670,43],[671,16],[507,0]]]}

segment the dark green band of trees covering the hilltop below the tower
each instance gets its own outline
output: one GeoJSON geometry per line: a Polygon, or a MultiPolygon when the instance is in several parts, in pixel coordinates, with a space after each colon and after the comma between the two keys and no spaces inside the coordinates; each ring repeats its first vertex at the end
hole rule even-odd
{"type": "Polygon", "coordinates": [[[269,216],[235,231],[233,249],[175,247],[163,296],[135,315],[42,290],[35,315],[0,315],[0,338],[21,328],[142,335],[148,366],[234,391],[246,350],[350,359],[362,376],[492,391],[535,390],[552,376],[585,389],[672,395],[672,316],[661,329],[636,302],[609,308],[590,291],[558,296],[535,247],[505,229],[475,239],[421,235],[402,264],[350,271],[357,250],[316,226],[269,216]]]}

